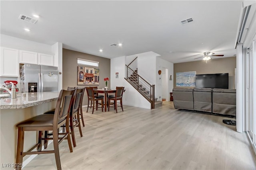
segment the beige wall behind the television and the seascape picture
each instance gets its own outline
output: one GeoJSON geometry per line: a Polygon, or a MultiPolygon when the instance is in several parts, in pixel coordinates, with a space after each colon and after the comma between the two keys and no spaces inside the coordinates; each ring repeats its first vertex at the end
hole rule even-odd
{"type": "MultiPolygon", "coordinates": [[[[192,61],[174,64],[174,88],[176,88],[176,72],[196,71],[196,74],[228,73],[228,88],[234,89],[236,57],[226,57],[205,61],[192,61]]],[[[180,87],[179,87],[180,88],[180,87]]]]}

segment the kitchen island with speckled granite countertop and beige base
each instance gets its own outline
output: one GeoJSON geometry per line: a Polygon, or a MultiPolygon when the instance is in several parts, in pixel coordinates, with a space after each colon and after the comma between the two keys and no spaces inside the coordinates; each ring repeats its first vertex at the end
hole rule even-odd
{"type": "MultiPolygon", "coordinates": [[[[17,98],[0,99],[0,169],[13,170],[16,163],[18,128],[16,124],[46,111],[54,109],[58,100],[57,92],[18,94],[17,98]]],[[[24,150],[32,147],[37,141],[35,131],[25,132],[24,150]]],[[[33,156],[33,155],[32,155],[33,156]]],[[[23,159],[26,164],[27,155],[23,159]]]]}

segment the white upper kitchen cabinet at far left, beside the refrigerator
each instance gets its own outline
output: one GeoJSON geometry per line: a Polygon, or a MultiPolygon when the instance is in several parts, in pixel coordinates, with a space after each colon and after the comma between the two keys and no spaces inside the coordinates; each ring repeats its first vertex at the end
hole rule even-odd
{"type": "Polygon", "coordinates": [[[17,49],[1,47],[0,76],[19,76],[19,53],[17,49]]]}

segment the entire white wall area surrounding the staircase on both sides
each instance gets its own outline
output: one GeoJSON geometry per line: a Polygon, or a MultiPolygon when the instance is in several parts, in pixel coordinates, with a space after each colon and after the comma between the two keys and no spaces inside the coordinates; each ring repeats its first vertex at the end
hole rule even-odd
{"type": "Polygon", "coordinates": [[[170,100],[170,92],[173,89],[173,80],[169,80],[170,75],[173,77],[173,63],[160,59],[158,54],[150,51],[146,53],[123,56],[111,59],[111,88],[116,88],[116,86],[124,86],[125,93],[123,96],[123,104],[127,106],[142,107],[150,109],[150,102],[148,102],[132,85],[130,85],[124,77],[125,75],[125,64],[130,63],[135,57],[138,57],[138,74],[142,76],[150,84],[155,85],[155,98],[162,96],[162,75],[158,75],[158,70],[166,69],[166,100],[170,100]],[[119,77],[116,78],[116,72],[118,72],[119,77]],[[159,79],[161,78],[161,79],[159,79]]]}

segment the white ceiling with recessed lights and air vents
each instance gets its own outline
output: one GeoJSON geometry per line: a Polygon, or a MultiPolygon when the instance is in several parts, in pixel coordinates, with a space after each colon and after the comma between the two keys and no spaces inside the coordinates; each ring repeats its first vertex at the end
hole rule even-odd
{"type": "Polygon", "coordinates": [[[1,34],[48,45],[60,42],[63,48],[110,59],[153,51],[172,63],[202,60],[194,60],[195,55],[205,51],[234,56],[242,8],[240,0],[0,3],[1,34]],[[40,15],[36,24],[19,19],[34,13],[40,15]],[[188,18],[194,21],[180,23],[188,18]]]}

